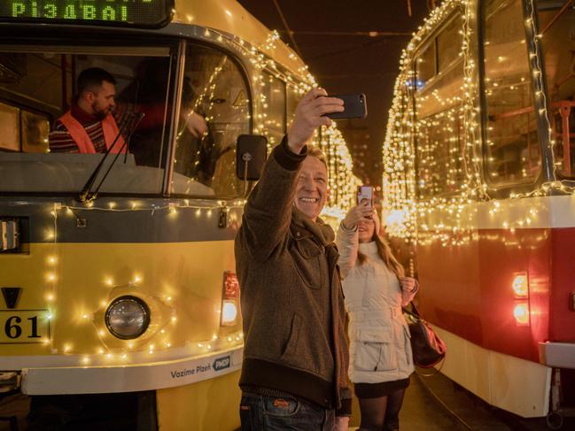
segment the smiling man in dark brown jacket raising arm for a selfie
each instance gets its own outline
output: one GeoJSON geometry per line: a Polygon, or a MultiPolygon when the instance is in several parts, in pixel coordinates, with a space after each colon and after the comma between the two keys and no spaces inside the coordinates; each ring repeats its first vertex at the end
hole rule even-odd
{"type": "Polygon", "coordinates": [[[268,158],[236,238],[245,350],[243,430],[346,429],[345,309],[332,229],[318,216],[328,170],[307,142],[343,102],[312,89],[268,158]]]}

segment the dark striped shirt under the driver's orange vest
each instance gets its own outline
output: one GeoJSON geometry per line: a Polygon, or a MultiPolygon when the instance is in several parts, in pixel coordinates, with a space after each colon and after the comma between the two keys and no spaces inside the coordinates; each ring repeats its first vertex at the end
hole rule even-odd
{"type": "MultiPolygon", "coordinates": [[[[71,108],[71,113],[74,119],[77,119],[80,124],[86,129],[86,133],[89,139],[94,144],[94,149],[96,152],[104,153],[105,140],[104,140],[104,130],[102,129],[102,122],[94,117],[93,115],[82,111],[77,104],[73,104],[71,108]]],[[[121,129],[122,125],[130,119],[129,112],[127,109],[116,109],[113,111],[113,118],[116,120],[118,128],[121,129]]],[[[121,135],[126,139],[128,132],[128,125],[122,129],[121,135]]],[[[54,127],[49,135],[50,140],[50,151],[51,152],[68,152],[68,153],[78,153],[80,152],[78,145],[68,132],[68,129],[62,121],[59,119],[54,123],[54,127]]],[[[118,144],[119,145],[119,144],[118,144]]],[[[115,147],[114,147],[115,148],[115,147]]]]}

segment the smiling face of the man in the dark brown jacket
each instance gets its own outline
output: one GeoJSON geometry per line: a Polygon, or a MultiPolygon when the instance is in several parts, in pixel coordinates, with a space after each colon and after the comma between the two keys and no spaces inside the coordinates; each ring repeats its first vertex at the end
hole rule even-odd
{"type": "Polygon", "coordinates": [[[299,170],[295,205],[310,219],[317,218],[328,198],[328,169],[319,158],[307,156],[299,170]]]}

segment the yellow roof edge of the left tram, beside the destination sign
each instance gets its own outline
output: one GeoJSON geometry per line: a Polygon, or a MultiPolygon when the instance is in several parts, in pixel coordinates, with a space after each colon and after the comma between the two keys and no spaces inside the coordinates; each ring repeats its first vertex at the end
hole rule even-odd
{"type": "Polygon", "coordinates": [[[295,74],[300,74],[299,68],[306,65],[284,42],[278,41],[274,43],[275,48],[268,48],[265,42],[271,30],[235,0],[175,0],[172,22],[237,35],[295,74]]]}

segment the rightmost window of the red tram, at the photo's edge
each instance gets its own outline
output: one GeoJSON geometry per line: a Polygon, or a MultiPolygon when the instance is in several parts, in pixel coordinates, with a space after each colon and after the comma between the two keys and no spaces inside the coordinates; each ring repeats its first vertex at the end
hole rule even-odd
{"type": "Polygon", "coordinates": [[[556,167],[575,177],[575,9],[571,0],[539,0],[539,27],[551,126],[556,141],[556,167]]]}

